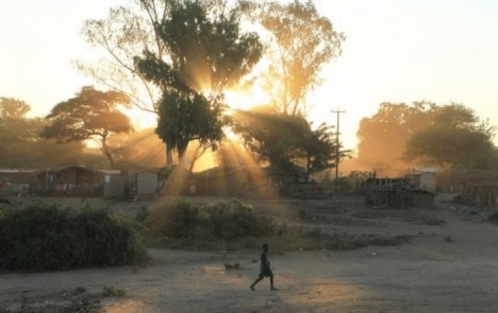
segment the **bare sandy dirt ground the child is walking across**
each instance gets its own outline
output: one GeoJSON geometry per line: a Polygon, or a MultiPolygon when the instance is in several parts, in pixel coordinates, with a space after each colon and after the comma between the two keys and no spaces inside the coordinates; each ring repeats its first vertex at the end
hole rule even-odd
{"type": "MultiPolygon", "coordinates": [[[[161,200],[45,201],[133,212],[161,200]]],[[[272,255],[277,291],[269,290],[267,280],[249,289],[259,269],[253,262],[258,251],[151,249],[152,263],[145,267],[0,274],[0,302],[13,306],[28,295],[50,303],[77,287],[96,293],[112,287],[126,295],[103,298],[105,312],[498,312],[498,224],[487,221],[487,212],[439,201],[432,208],[374,210],[358,197],[246,202],[278,221],[330,233],[413,238],[403,246],[272,255]],[[241,269],[226,270],[226,262],[241,269]]]]}

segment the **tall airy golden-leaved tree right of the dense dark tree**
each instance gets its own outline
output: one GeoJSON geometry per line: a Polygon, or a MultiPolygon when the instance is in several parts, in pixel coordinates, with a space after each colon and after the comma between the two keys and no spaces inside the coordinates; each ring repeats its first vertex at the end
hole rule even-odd
{"type": "Polygon", "coordinates": [[[309,91],[321,82],[324,64],[341,54],[345,36],[321,16],[313,1],[282,4],[243,1],[250,19],[270,33],[265,56],[265,89],[283,114],[303,114],[309,91]]]}

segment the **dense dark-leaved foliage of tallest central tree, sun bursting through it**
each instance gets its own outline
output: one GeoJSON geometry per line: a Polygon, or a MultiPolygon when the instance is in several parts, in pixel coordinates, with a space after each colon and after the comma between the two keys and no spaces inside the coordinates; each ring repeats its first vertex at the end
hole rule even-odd
{"type": "Polygon", "coordinates": [[[162,92],[157,133],[181,155],[194,140],[214,147],[223,137],[223,89],[239,82],[260,59],[258,35],[240,32],[238,10],[221,8],[213,14],[197,1],[172,6],[156,30],[169,58],[146,50],[135,62],[162,92]]]}

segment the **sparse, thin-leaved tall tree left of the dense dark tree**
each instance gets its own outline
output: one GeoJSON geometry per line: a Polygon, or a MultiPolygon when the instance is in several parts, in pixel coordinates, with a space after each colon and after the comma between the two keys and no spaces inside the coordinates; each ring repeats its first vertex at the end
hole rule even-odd
{"type": "MultiPolygon", "coordinates": [[[[144,48],[157,60],[168,59],[169,46],[159,27],[171,9],[184,0],[129,0],[110,9],[106,18],[85,21],[82,34],[102,58],[97,62],[78,60],[76,65],[106,89],[127,94],[134,106],[159,116],[161,89],[134,66],[134,57],[144,48]]],[[[223,0],[199,0],[196,4],[216,14],[223,0]]],[[[166,166],[173,163],[172,147],[166,146],[166,166]]]]}

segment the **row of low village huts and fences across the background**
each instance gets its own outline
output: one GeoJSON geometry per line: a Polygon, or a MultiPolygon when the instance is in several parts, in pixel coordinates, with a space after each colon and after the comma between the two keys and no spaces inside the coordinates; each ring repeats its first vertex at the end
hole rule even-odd
{"type": "MultiPolygon", "coordinates": [[[[304,180],[278,177],[261,168],[212,168],[189,176],[180,194],[218,197],[251,197],[258,190],[265,197],[275,194],[300,199],[323,199],[337,190],[334,180],[304,180]]],[[[159,197],[166,191],[169,172],[165,168],[98,170],[83,165],[46,169],[0,169],[0,195],[38,194],[51,197],[106,197],[139,199],[159,197]],[[10,185],[22,185],[13,188],[10,185]]],[[[427,207],[438,193],[453,194],[454,201],[477,207],[496,203],[498,173],[484,170],[408,170],[401,177],[364,175],[354,191],[364,194],[365,204],[375,209],[427,207]]],[[[19,198],[20,199],[20,198],[19,198]]]]}

